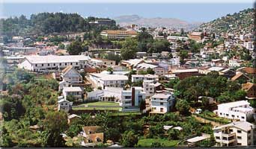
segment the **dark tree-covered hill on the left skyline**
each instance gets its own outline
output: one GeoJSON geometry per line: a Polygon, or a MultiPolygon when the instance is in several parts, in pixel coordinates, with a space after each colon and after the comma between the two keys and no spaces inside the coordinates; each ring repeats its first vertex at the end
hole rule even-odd
{"type": "Polygon", "coordinates": [[[30,19],[26,19],[24,15],[19,16],[19,18],[0,19],[0,24],[2,25],[2,34],[8,37],[28,34],[85,32],[92,31],[92,28],[96,31],[117,28],[114,20],[110,25],[90,25],[89,22],[95,19],[106,18],[88,17],[84,19],[77,13],[37,13],[32,14],[30,19]]]}

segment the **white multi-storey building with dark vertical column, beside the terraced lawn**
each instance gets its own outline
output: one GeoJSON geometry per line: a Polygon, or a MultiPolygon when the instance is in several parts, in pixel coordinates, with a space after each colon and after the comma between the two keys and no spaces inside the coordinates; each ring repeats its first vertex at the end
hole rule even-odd
{"type": "Polygon", "coordinates": [[[139,110],[139,104],[146,97],[146,93],[139,86],[133,86],[129,90],[123,90],[121,92],[120,106],[123,111],[139,110]]]}

